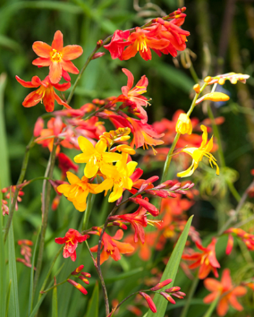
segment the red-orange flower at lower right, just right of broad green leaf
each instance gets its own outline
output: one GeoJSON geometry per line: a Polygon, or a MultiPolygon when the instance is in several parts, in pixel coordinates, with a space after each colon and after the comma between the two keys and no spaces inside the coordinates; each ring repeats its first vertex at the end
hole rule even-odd
{"type": "Polygon", "coordinates": [[[216,259],[216,242],[217,240],[213,238],[207,248],[204,248],[201,244],[196,242],[196,247],[203,252],[182,256],[182,259],[194,261],[194,263],[189,266],[190,269],[200,267],[198,270],[198,279],[205,279],[211,271],[213,271],[215,277],[219,277],[217,268],[220,268],[220,263],[216,259]]]}

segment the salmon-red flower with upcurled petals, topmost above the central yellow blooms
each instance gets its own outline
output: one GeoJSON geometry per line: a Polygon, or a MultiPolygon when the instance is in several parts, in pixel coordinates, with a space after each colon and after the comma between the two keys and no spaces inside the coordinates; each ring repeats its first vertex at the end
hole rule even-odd
{"type": "Polygon", "coordinates": [[[139,119],[142,119],[145,122],[147,122],[148,115],[146,113],[146,110],[144,110],[142,106],[148,106],[149,102],[146,97],[143,97],[141,95],[143,93],[146,93],[146,87],[148,86],[148,78],[146,78],[146,75],[143,75],[141,77],[141,80],[139,80],[135,87],[132,88],[134,82],[134,77],[132,73],[128,71],[128,69],[126,68],[123,68],[122,71],[128,77],[127,86],[122,87],[122,95],[119,95],[119,97],[117,97],[117,99],[113,101],[113,104],[115,104],[116,102],[123,102],[120,108],[129,107],[128,111],[130,113],[137,115],[139,119]]]}

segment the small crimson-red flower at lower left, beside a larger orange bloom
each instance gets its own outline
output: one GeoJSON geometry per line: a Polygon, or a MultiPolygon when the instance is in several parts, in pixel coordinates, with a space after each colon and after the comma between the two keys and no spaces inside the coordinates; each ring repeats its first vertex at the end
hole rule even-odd
{"type": "Polygon", "coordinates": [[[65,237],[58,237],[55,239],[57,244],[65,244],[63,249],[63,257],[71,257],[72,261],[76,261],[76,248],[78,243],[84,242],[89,235],[81,235],[75,229],[69,229],[65,234],[65,237]]]}

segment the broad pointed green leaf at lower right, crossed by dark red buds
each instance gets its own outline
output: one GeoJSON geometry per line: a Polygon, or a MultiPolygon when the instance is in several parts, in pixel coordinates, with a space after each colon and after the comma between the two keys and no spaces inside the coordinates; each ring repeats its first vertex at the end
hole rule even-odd
{"type": "MultiPolygon", "coordinates": [[[[178,266],[181,261],[183,249],[185,247],[185,243],[188,237],[189,227],[192,224],[192,218],[193,218],[193,215],[187,221],[187,224],[185,225],[185,228],[181,236],[179,237],[178,242],[176,243],[176,246],[174,247],[170,260],[168,261],[168,264],[165,267],[165,270],[161,277],[161,281],[165,281],[165,279],[172,279],[172,286],[174,286],[174,280],[176,278],[178,266]]],[[[167,286],[165,286],[165,288],[167,288],[167,286]]],[[[160,294],[155,294],[153,301],[157,307],[157,313],[153,313],[152,311],[149,310],[146,317],[164,317],[165,311],[167,309],[168,301],[166,301],[166,299],[160,294]]]]}

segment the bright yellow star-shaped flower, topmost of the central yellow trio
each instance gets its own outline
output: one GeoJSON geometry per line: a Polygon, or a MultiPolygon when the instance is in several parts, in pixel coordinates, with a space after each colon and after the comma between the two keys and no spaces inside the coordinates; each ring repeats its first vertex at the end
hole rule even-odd
{"type": "Polygon", "coordinates": [[[78,137],[78,145],[80,145],[80,153],[74,157],[76,163],[86,163],[84,167],[84,176],[92,178],[99,169],[107,163],[113,163],[121,160],[122,155],[118,153],[110,153],[106,151],[106,141],[101,139],[93,144],[85,137],[78,137]]]}

